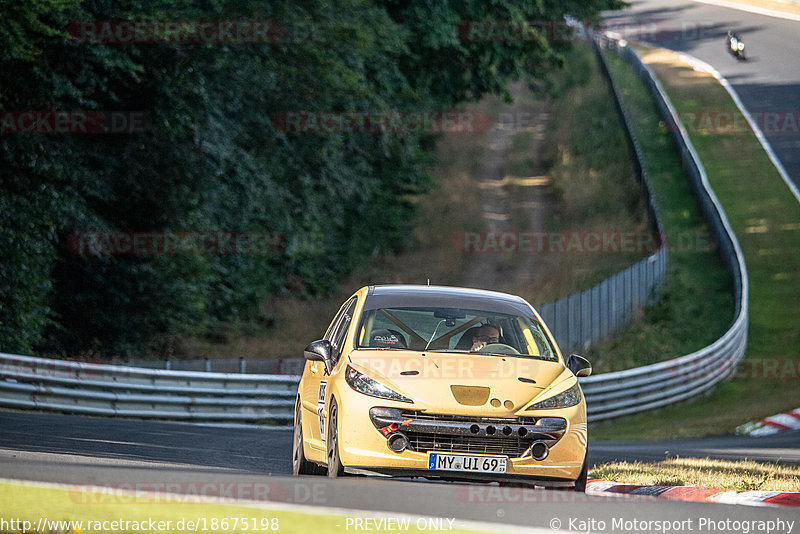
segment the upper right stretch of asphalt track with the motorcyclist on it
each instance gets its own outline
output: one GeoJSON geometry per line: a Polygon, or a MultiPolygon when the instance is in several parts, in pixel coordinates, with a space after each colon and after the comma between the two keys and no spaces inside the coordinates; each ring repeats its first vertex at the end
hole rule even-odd
{"type": "Polygon", "coordinates": [[[685,52],[717,69],[754,115],[790,179],[800,186],[800,22],[691,0],[631,4],[630,9],[607,14],[610,29],[685,52]],[[728,30],[742,37],[747,61],[727,53],[728,30]]]}

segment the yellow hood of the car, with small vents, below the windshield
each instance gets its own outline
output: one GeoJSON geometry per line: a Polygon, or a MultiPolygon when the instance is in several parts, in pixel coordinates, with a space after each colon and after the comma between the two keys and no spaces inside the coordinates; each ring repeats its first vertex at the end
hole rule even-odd
{"type": "Polygon", "coordinates": [[[455,415],[513,417],[572,376],[558,362],[508,355],[356,350],[349,360],[416,409],[455,415]]]}

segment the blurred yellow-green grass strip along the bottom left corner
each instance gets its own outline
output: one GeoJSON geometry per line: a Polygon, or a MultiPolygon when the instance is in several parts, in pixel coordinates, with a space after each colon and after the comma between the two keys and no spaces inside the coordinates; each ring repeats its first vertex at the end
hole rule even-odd
{"type": "MultiPolygon", "coordinates": [[[[225,484],[226,486],[228,484],[225,484]]],[[[120,487],[124,484],[120,484],[120,487]]],[[[202,484],[198,484],[198,487],[202,484]]],[[[264,484],[266,486],[266,484],[264,484]]],[[[219,491],[220,488],[217,488],[219,491]]],[[[270,488],[274,489],[274,488],[270,488]]],[[[291,489],[291,488],[289,488],[291,489]]],[[[201,490],[202,491],[202,490],[201,490]]],[[[234,489],[236,491],[236,489],[234,489]]],[[[219,497],[216,499],[219,501],[219,497]]],[[[18,532],[342,532],[350,521],[372,517],[396,520],[403,531],[426,532],[425,518],[399,514],[315,512],[311,507],[217,504],[190,495],[143,494],[114,489],[110,492],[39,487],[27,483],[0,483],[0,517],[17,519],[9,531],[18,532]],[[47,521],[47,523],[41,523],[47,521]],[[407,521],[404,523],[403,521],[407,521]],[[418,522],[419,521],[419,522],[418,522]],[[63,523],[59,523],[63,522],[63,523]],[[191,523],[190,523],[191,522],[191,523]],[[407,525],[407,528],[406,528],[407,525]],[[41,528],[40,528],[41,526],[41,528]],[[197,527],[197,528],[195,528],[197,527]]],[[[430,525],[450,525],[448,519],[430,518],[430,525]],[[437,522],[438,521],[438,522],[437,522]]],[[[462,521],[453,522],[451,532],[476,532],[462,521]]],[[[370,524],[370,523],[367,523],[370,524]]],[[[375,525],[375,523],[371,523],[375,525]]],[[[363,523],[362,523],[363,525],[363,523]]],[[[399,527],[398,527],[399,528],[399,527]]],[[[375,529],[378,529],[375,526],[375,529]]],[[[5,530],[5,528],[4,528],[5,530]]],[[[449,530],[449,529],[448,529],[449,530]]]]}

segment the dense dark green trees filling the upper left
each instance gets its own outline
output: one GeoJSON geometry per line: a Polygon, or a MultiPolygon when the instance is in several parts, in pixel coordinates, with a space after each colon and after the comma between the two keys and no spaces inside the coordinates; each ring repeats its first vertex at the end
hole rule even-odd
{"type": "Polygon", "coordinates": [[[0,135],[0,349],[119,354],[257,320],[403,246],[426,134],[293,134],[290,110],[446,110],[543,78],[565,40],[459,38],[464,21],[596,17],[618,0],[0,0],[0,111],[124,110],[142,132],[0,135]],[[81,21],[277,21],[274,43],[93,44],[81,21]],[[269,232],[272,254],[81,255],[75,232],[269,232]]]}

